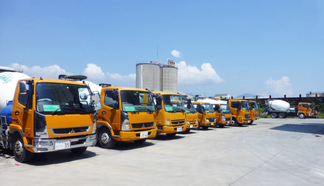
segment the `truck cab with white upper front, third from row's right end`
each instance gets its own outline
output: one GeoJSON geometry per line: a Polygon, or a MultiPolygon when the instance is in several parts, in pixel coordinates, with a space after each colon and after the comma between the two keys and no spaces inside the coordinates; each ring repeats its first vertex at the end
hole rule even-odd
{"type": "Polygon", "coordinates": [[[216,123],[220,128],[223,128],[226,124],[232,125],[232,111],[227,104],[224,103],[212,103],[215,110],[216,123]]]}

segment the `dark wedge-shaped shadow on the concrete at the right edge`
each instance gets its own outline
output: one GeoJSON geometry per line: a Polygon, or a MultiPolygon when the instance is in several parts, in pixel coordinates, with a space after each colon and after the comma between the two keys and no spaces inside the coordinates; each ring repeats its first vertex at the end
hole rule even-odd
{"type": "Polygon", "coordinates": [[[324,135],[324,125],[320,123],[285,124],[270,128],[270,130],[324,135]]]}

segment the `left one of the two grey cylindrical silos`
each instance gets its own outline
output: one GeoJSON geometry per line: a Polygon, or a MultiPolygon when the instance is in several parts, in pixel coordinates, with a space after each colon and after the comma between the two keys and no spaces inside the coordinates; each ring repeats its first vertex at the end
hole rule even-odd
{"type": "Polygon", "coordinates": [[[139,61],[136,63],[136,88],[161,91],[161,69],[159,63],[139,61]]]}

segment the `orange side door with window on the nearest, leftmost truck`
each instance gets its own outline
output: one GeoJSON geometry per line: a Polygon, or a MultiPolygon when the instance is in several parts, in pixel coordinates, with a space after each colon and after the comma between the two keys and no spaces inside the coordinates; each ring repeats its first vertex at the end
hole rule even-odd
{"type": "MultiPolygon", "coordinates": [[[[19,86],[19,85],[18,85],[19,86]]],[[[19,90],[19,89],[16,89],[19,90]]],[[[20,125],[27,137],[33,137],[33,125],[34,125],[34,110],[33,108],[33,85],[29,85],[29,91],[26,94],[20,94],[19,91],[18,99],[14,101],[12,111],[12,123],[20,125]]],[[[16,98],[17,96],[15,96],[16,98]]]]}

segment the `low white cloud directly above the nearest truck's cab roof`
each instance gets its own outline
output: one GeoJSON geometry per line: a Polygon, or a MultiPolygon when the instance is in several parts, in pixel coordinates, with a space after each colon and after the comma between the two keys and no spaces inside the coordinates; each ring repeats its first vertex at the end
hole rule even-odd
{"type": "Polygon", "coordinates": [[[43,76],[44,78],[52,78],[57,79],[58,75],[65,74],[65,75],[72,75],[72,73],[66,72],[66,70],[61,69],[58,65],[52,65],[48,67],[27,67],[26,65],[19,65],[18,63],[12,63],[10,65],[14,69],[24,69],[24,73],[29,75],[30,77],[39,78],[43,76]]]}

